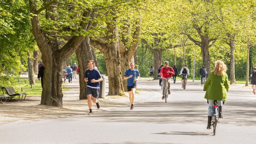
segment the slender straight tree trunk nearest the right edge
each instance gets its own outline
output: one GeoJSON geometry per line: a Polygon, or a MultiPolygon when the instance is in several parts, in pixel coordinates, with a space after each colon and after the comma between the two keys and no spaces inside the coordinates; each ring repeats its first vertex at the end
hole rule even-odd
{"type": "Polygon", "coordinates": [[[229,42],[228,45],[230,46],[230,85],[236,84],[236,77],[235,77],[235,35],[228,33],[229,42]]]}

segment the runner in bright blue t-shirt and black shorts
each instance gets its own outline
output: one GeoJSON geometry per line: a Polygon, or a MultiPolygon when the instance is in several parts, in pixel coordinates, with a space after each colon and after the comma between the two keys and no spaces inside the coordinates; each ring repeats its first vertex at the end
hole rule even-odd
{"type": "Polygon", "coordinates": [[[137,88],[138,79],[140,78],[140,73],[134,68],[135,64],[130,64],[130,69],[127,69],[124,75],[124,79],[127,79],[127,89],[129,93],[129,100],[131,102],[131,110],[134,109],[134,95],[137,88]]]}

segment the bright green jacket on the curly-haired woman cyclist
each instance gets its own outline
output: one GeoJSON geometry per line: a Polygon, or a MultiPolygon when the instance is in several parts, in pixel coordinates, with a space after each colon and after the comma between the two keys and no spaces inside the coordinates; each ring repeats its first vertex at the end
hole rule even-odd
{"type": "Polygon", "coordinates": [[[206,91],[204,98],[217,101],[226,101],[226,92],[228,90],[229,84],[226,73],[215,75],[211,72],[203,86],[203,91],[206,91]]]}

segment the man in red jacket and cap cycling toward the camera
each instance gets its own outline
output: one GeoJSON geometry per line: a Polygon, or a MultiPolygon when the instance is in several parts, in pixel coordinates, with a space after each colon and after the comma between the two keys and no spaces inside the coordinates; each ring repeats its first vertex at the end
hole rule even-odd
{"type": "Polygon", "coordinates": [[[174,75],[174,74],[175,74],[174,70],[171,68],[171,66],[169,66],[169,62],[165,61],[164,66],[162,67],[161,72],[160,72],[161,78],[164,78],[164,79],[162,79],[162,81],[163,81],[163,96],[162,96],[162,99],[164,99],[164,88],[165,88],[165,85],[166,85],[166,81],[168,82],[168,94],[171,95],[171,91],[170,91],[171,81],[170,80],[168,81],[168,78],[171,79],[171,75],[174,75]]]}

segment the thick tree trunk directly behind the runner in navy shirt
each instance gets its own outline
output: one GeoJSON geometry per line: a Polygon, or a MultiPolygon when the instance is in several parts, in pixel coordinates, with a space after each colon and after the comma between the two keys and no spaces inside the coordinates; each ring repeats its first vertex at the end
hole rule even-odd
{"type": "Polygon", "coordinates": [[[85,39],[80,44],[79,48],[75,51],[76,58],[79,63],[79,87],[80,87],[80,93],[79,93],[79,99],[85,99],[86,96],[86,85],[87,83],[84,81],[85,77],[85,70],[88,69],[87,66],[87,60],[93,59],[95,63],[96,57],[95,57],[95,51],[92,49],[90,45],[90,38],[89,36],[85,36],[85,39]]]}

